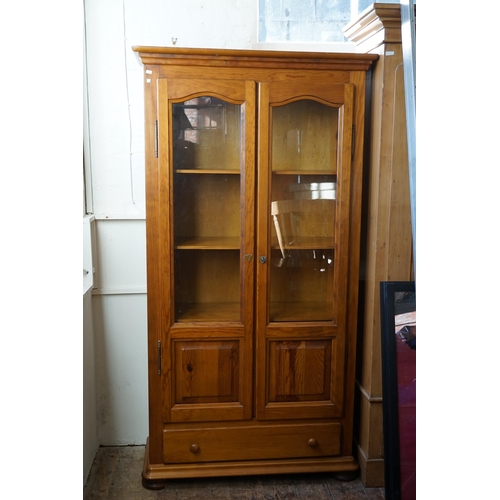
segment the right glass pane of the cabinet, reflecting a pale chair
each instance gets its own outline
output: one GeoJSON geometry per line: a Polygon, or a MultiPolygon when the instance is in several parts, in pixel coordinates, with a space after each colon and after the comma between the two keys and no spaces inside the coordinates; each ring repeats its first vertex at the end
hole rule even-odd
{"type": "Polygon", "coordinates": [[[272,108],[271,321],[333,319],[338,108],[272,108]]]}

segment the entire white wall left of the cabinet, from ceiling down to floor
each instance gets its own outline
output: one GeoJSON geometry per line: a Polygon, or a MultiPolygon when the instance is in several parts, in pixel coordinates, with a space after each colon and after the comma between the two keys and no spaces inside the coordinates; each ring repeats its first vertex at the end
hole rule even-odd
{"type": "MultiPolygon", "coordinates": [[[[144,444],[148,435],[143,68],[131,47],[171,46],[177,38],[177,46],[251,48],[257,4],[84,0],[87,209],[96,218],[94,338],[87,333],[86,352],[93,341],[102,445],[144,444]]],[[[88,317],[89,308],[84,312],[88,317]]],[[[92,370],[86,363],[84,371],[92,370]]],[[[85,442],[92,432],[84,428],[85,442]]]]}

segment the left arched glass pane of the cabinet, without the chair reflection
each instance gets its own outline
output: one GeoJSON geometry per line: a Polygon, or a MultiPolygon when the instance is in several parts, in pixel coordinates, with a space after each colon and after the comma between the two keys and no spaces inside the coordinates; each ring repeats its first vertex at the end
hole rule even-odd
{"type": "Polygon", "coordinates": [[[240,320],[241,105],[173,104],[175,321],[240,320]]]}

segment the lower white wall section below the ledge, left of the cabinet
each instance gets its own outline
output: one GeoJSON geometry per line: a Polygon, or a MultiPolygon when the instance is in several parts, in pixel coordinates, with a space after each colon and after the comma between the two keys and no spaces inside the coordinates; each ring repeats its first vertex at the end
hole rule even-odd
{"type": "Polygon", "coordinates": [[[97,221],[93,315],[102,445],[144,444],[147,424],[143,220],[97,221]]]}

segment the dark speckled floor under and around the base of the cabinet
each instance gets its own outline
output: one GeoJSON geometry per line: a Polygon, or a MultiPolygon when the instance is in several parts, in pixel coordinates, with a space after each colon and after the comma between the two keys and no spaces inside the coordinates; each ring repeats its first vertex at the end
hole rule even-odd
{"type": "Polygon", "coordinates": [[[144,446],[102,447],[83,490],[83,500],[384,500],[383,488],[360,479],[341,482],[328,474],[176,480],[160,491],[142,486],[144,446]]]}

